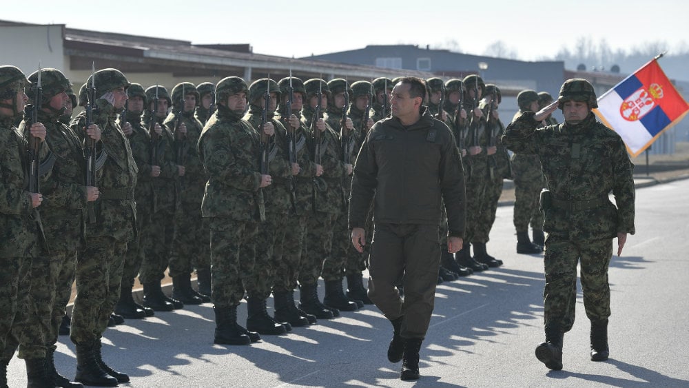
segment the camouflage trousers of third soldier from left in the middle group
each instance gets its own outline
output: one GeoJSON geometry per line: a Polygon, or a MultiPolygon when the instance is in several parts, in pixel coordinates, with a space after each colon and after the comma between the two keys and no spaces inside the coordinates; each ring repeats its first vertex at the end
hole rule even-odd
{"type": "Polygon", "coordinates": [[[305,252],[307,216],[289,215],[280,225],[285,236],[273,247],[275,261],[274,292],[291,292],[297,287],[299,269],[305,252]]]}

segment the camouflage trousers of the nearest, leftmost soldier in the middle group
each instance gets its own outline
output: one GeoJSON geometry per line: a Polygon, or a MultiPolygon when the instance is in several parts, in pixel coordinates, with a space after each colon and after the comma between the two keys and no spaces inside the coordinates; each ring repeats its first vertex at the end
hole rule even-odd
{"type": "Polygon", "coordinates": [[[239,305],[244,281],[254,270],[257,223],[232,218],[209,218],[211,298],[216,307],[239,305]]]}

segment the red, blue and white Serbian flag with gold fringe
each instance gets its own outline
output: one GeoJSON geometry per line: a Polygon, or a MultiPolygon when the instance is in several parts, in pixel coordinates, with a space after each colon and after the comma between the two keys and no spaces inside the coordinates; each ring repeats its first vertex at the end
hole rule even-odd
{"type": "Polygon", "coordinates": [[[681,121],[689,105],[655,57],[598,99],[598,118],[621,136],[632,156],[644,152],[665,130],[681,121]]]}

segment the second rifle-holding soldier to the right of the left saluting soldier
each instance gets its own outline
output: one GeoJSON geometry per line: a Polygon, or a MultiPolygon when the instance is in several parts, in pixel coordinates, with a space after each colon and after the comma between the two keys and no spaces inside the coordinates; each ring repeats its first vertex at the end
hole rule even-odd
{"type": "MultiPolygon", "coordinates": [[[[185,167],[177,163],[172,129],[163,123],[172,105],[167,89],[159,85],[147,88],[146,101],[149,109],[143,112],[141,125],[149,128],[151,134],[153,160],[150,164],[157,175],[153,176],[153,210],[150,223],[143,225],[141,230],[144,257],[138,280],[143,285],[143,305],[165,312],[184,307],[180,300],[163,294],[161,280],[165,278],[165,269],[169,265],[169,256],[172,253],[175,213],[180,205],[179,182],[185,174],[185,167]]],[[[186,134],[187,128],[180,125],[178,131],[186,134]]]]}

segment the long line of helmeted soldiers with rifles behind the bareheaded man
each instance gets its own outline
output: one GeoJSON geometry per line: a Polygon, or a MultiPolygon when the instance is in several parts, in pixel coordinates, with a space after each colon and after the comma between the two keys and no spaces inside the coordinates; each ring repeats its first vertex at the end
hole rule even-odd
{"type": "MultiPolygon", "coordinates": [[[[292,76],[247,85],[231,76],[216,85],[178,83],[170,94],[104,69],[84,83],[78,102],[85,111],[72,119],[77,96],[59,70],[25,79],[1,66],[0,147],[10,155],[1,164],[3,198],[14,203],[1,212],[9,243],[0,259],[12,270],[0,283],[10,301],[0,306],[0,387],[17,349],[30,386],[127,382],[101,355],[113,319],[212,300],[214,342],[245,345],[371,304],[362,282],[368,255],[349,243],[346,214],[353,163],[367,131],[389,115],[393,85],[292,76]],[[33,103],[26,108],[25,86],[33,103]],[[31,192],[33,136],[43,146],[33,153],[40,190],[31,192]],[[168,268],[172,297],[161,289],[168,268]],[[136,276],[141,304],[132,297],[136,276]],[[70,382],[53,354],[74,280],[77,382],[70,382]],[[245,296],[243,326],[237,307],[245,296]]],[[[512,173],[498,140],[500,89],[476,75],[427,85],[426,104],[453,130],[462,154],[469,203],[464,248],[456,257],[440,249],[441,282],[502,265],[486,243],[502,181],[512,173]]]]}

